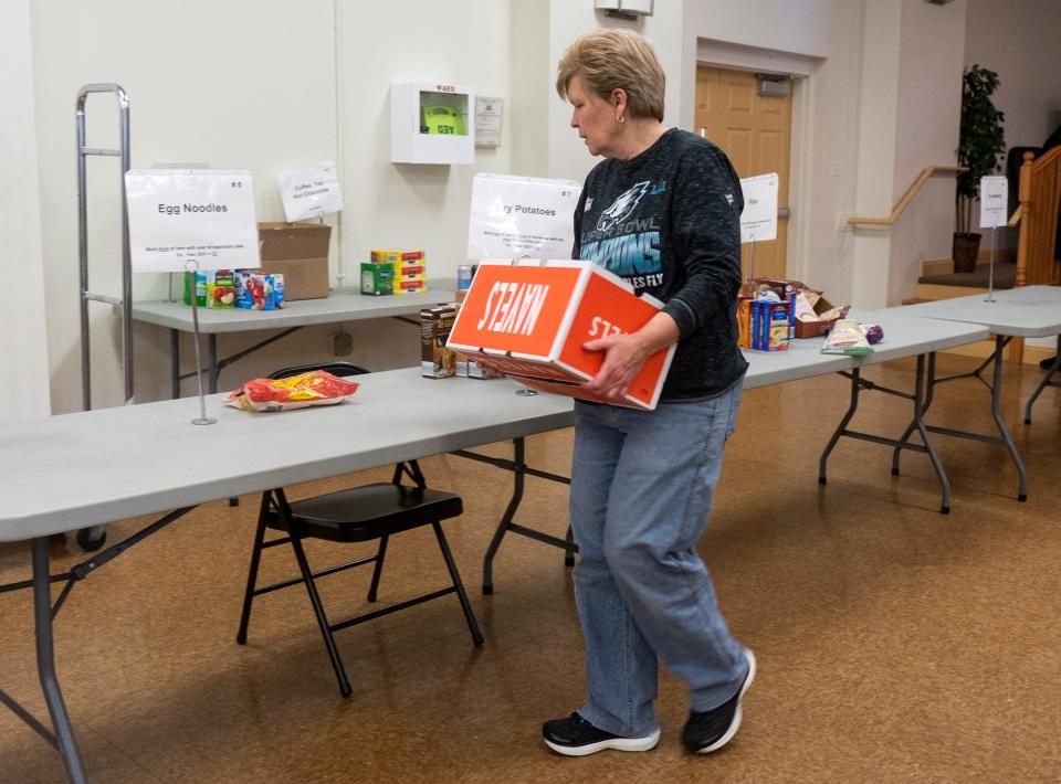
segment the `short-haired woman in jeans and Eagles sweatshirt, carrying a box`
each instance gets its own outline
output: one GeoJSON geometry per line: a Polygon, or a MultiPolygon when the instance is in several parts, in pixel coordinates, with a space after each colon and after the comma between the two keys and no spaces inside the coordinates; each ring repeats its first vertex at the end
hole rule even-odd
{"type": "Polygon", "coordinates": [[[645,359],[677,343],[654,411],[575,402],[570,519],[588,697],[543,725],[549,748],[572,756],[655,746],[658,661],[689,685],[682,740],[697,753],[734,735],[755,677],[695,549],[747,369],[735,318],[744,199],[722,150],[663,128],[664,78],[652,45],[623,29],[584,35],[558,64],[570,125],[605,158],[576,209],[574,257],[665,303],[638,332],[586,343],[606,353],[586,386],[619,402],[645,359]]]}

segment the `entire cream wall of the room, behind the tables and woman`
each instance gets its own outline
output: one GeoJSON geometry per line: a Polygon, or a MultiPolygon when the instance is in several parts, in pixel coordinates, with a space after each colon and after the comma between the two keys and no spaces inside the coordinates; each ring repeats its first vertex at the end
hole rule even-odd
{"type": "MultiPolygon", "coordinates": [[[[338,282],[379,245],[423,247],[434,275],[453,275],[464,261],[476,171],[586,174],[595,160],[568,127],[569,107],[553,93],[556,60],[584,32],[608,24],[644,32],[668,72],[665,121],[682,127],[692,124],[703,42],[796,57],[809,65],[795,89],[789,271],[826,288],[834,301],[863,306],[894,304],[908,292],[922,257],[946,255],[946,191],[953,187],[946,180],[918,197],[920,206],[892,232],[847,231],[842,219],[885,214],[922,166],[953,160],[960,64],[973,57],[1002,75],[1000,105],[1010,144],[1041,141],[1049,109],[1061,107],[1061,14],[1053,12],[1053,0],[955,0],[944,7],[922,0],[660,0],[655,6],[650,19],[619,22],[596,13],[589,0],[306,0],[297,11],[274,0],[7,3],[3,33],[11,43],[4,54],[14,65],[6,73],[22,85],[22,95],[6,97],[6,108],[14,110],[3,114],[0,130],[17,138],[21,133],[22,141],[18,155],[0,160],[21,167],[27,193],[39,189],[40,218],[32,198],[17,204],[11,214],[29,227],[30,245],[12,245],[6,227],[3,250],[7,258],[12,247],[43,255],[43,290],[34,295],[30,280],[25,299],[27,324],[33,324],[32,314],[46,314],[51,393],[39,379],[38,399],[50,396],[54,412],[80,405],[73,100],[87,82],[114,81],[128,91],[134,166],[181,161],[251,169],[262,220],[282,214],[277,171],[339,159],[347,209],[329,219],[342,234],[332,258],[338,282]],[[421,80],[469,84],[504,97],[502,147],[479,150],[473,167],[391,165],[389,84],[421,80]],[[42,241],[32,240],[38,234],[42,241]]],[[[109,145],[113,105],[93,100],[90,142],[109,145]]],[[[116,184],[113,160],[92,161],[93,288],[104,294],[118,290],[116,184]]],[[[137,276],[135,290],[140,298],[164,296],[166,279],[137,276]]],[[[99,405],[118,404],[117,321],[102,306],[94,306],[92,320],[94,398],[99,405]]],[[[337,328],[285,338],[233,365],[222,386],[280,364],[329,358],[329,335],[337,328]]],[[[418,360],[410,325],[387,320],[346,328],[364,364],[382,369],[418,360]]],[[[38,340],[44,329],[38,324],[33,330],[38,340]]],[[[221,353],[266,336],[222,338],[221,353]]],[[[166,330],[137,328],[138,400],[168,395],[168,341],[166,330]]],[[[24,356],[40,361],[43,353],[24,356]]],[[[183,353],[187,370],[187,338],[183,353]]]]}

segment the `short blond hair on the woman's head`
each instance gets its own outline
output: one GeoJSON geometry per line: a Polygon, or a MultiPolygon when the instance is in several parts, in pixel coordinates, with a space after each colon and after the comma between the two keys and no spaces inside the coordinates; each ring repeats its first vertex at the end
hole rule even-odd
{"type": "Polygon", "coordinates": [[[571,77],[579,76],[605,99],[613,89],[626,91],[633,117],[663,121],[666,75],[649,40],[632,30],[610,28],[582,35],[567,47],[556,71],[556,92],[565,100],[571,77]]]}

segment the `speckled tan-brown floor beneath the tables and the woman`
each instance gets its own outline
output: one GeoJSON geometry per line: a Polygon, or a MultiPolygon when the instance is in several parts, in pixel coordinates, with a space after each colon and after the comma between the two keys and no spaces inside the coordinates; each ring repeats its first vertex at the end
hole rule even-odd
{"type": "MultiPolygon", "coordinates": [[[[904,385],[912,363],[868,375],[904,385]]],[[[570,575],[558,551],[510,537],[496,591],[482,596],[481,558],[507,475],[445,456],[423,466],[434,486],[465,499],[448,530],[486,635],[482,649],[452,596],[346,629],[338,639],[354,696],[344,700],[301,589],[261,598],[250,644],[235,645],[256,501],[211,504],[93,574],[59,616],[60,677],[90,778],[1059,781],[1061,396],[1043,394],[1032,426],[1018,410],[1039,378],[1007,368],[1005,414],[1029,464],[1028,502],[1015,500],[1016,472],[999,447],[938,437],[954,484],[949,517],[937,511],[927,459],[912,453],[892,477],[889,449],[844,441],[819,487],[818,454],[848,396],[842,380],[745,396],[701,551],[732,629],[758,655],[759,677],[744,728],[718,754],[682,753],[687,708],[669,674],[654,751],[574,760],[542,744],[542,720],[582,697],[570,575]]],[[[976,382],[942,389],[939,401],[935,424],[989,428],[976,382]]],[[[906,406],[871,395],[855,426],[896,434],[906,406]]],[[[566,473],[569,457],[570,432],[528,442],[538,467],[566,473]]],[[[519,521],[560,534],[565,505],[565,487],[529,480],[519,521]]],[[[111,540],[137,522],[112,526],[111,540]]],[[[0,547],[0,581],[28,573],[27,553],[0,547]]],[[[53,554],[62,565],[82,558],[62,539],[53,554]]],[[[293,564],[287,551],[266,559],[273,575],[293,564]]],[[[325,601],[336,616],[364,604],[368,576],[330,578],[325,601]]],[[[413,531],[392,543],[380,598],[443,581],[430,532],[413,531]]],[[[30,598],[0,595],[0,688],[44,718],[30,598]]],[[[62,780],[52,749],[0,708],[0,781],[62,780]]]]}

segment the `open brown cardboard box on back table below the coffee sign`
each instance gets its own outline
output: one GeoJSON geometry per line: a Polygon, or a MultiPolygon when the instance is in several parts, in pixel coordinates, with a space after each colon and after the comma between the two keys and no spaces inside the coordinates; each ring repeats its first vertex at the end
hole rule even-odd
{"type": "Polygon", "coordinates": [[[262,272],[284,276],[284,299],[327,297],[330,240],[332,226],[322,223],[259,223],[262,272]]]}

